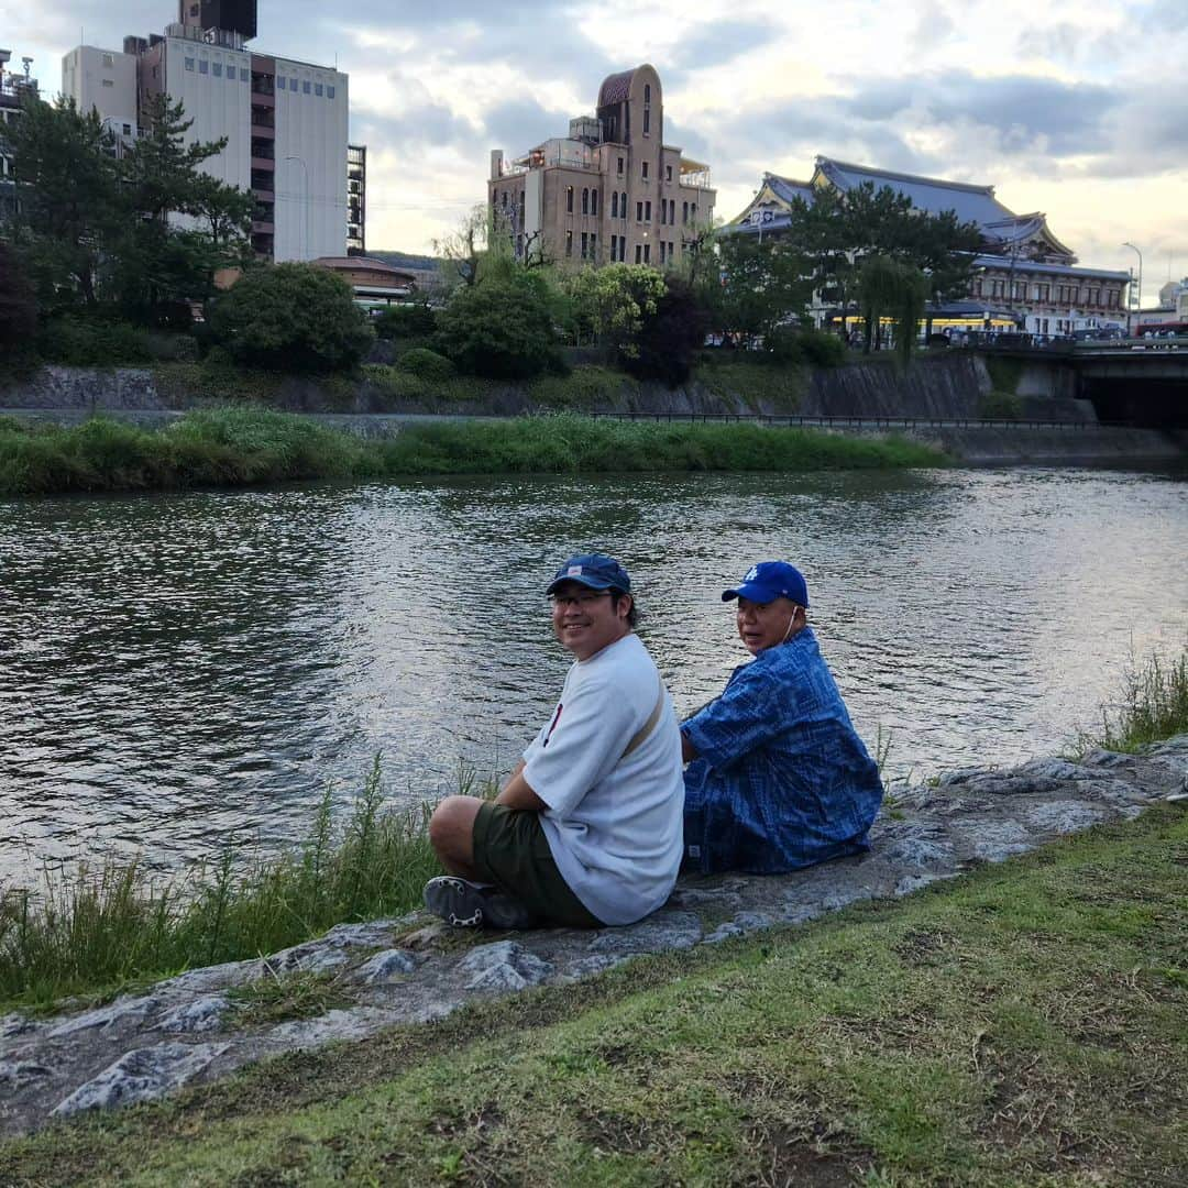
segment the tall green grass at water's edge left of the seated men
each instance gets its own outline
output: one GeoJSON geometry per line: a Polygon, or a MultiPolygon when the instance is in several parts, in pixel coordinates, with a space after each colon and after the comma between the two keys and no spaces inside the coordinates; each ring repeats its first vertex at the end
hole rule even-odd
{"type": "MultiPolygon", "coordinates": [[[[460,778],[460,790],[476,788],[460,778]]],[[[484,789],[485,790],[485,789],[484,789]]],[[[329,792],[309,841],[241,862],[226,849],[206,871],[154,879],[135,860],[46,872],[36,889],[0,889],[0,1011],[121,987],[192,966],[273,953],[346,921],[421,903],[441,867],[428,808],[385,810],[379,762],[340,827],[329,792]]]]}

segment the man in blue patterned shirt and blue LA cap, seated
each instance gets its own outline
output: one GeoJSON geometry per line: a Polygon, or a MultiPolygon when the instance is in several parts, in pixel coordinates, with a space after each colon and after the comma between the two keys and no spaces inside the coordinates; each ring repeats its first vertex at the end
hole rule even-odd
{"type": "Polygon", "coordinates": [[[754,659],[681,727],[685,868],[779,874],[870,849],[883,785],[805,623],[803,576],[762,561],[735,598],[754,659]]]}

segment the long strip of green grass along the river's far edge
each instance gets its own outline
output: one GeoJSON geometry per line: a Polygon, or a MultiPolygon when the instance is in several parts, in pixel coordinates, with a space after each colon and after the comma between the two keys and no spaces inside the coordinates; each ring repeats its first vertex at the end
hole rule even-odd
{"type": "Polygon", "coordinates": [[[944,461],[931,447],[893,437],[747,424],[637,424],[575,413],[416,422],[383,441],[263,409],[190,412],[157,431],[105,418],[63,428],[0,417],[0,494],[7,495],[423,474],[795,472],[944,461]]]}

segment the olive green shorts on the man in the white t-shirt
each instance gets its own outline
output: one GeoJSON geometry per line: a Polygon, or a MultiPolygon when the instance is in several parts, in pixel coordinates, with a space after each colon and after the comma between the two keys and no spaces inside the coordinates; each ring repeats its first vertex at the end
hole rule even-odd
{"type": "Polygon", "coordinates": [[[470,839],[480,877],[514,896],[544,923],[604,927],[561,877],[539,813],[488,801],[474,819],[470,839]]]}

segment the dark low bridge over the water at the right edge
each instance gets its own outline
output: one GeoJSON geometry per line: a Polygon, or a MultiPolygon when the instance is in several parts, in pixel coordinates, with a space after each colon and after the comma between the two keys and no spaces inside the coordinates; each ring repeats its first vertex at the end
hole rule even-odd
{"type": "Polygon", "coordinates": [[[1188,336],[1043,343],[978,335],[959,349],[1015,360],[1035,394],[1091,400],[1099,421],[1188,428],[1188,336]]]}

